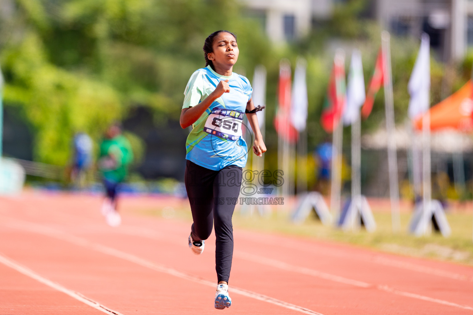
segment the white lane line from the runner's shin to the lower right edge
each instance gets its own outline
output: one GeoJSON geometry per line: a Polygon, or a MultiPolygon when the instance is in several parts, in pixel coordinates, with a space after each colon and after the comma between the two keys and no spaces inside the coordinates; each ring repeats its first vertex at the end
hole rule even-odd
{"type": "MultiPolygon", "coordinates": [[[[290,272],[297,272],[297,273],[307,274],[307,275],[315,276],[317,278],[322,278],[322,279],[325,279],[325,280],[330,280],[330,281],[340,282],[340,283],[344,283],[344,284],[349,284],[349,285],[353,285],[353,286],[356,286],[356,287],[362,287],[362,288],[375,287],[373,284],[370,284],[370,283],[367,283],[367,282],[351,280],[351,279],[336,276],[336,275],[333,275],[333,274],[330,274],[330,273],[319,272],[319,271],[314,270],[314,269],[294,266],[294,265],[291,265],[291,264],[281,262],[279,260],[266,258],[266,257],[260,256],[260,255],[254,255],[254,254],[249,254],[249,253],[239,252],[239,251],[236,251],[236,254],[237,254],[238,258],[240,258],[240,259],[245,259],[245,260],[248,260],[248,261],[251,261],[251,262],[264,264],[264,265],[267,265],[267,266],[283,269],[283,270],[290,271],[290,272]]],[[[443,305],[448,305],[448,306],[454,306],[454,307],[463,308],[463,309],[467,309],[467,310],[473,310],[473,307],[471,307],[471,306],[461,305],[461,304],[441,300],[441,299],[438,299],[438,298],[430,298],[430,297],[426,297],[426,296],[416,294],[416,293],[404,292],[404,291],[400,291],[400,290],[390,288],[390,287],[385,286],[385,285],[378,285],[378,286],[376,286],[376,288],[378,290],[381,290],[381,291],[394,293],[394,294],[397,294],[397,295],[402,295],[404,297],[417,298],[417,299],[420,299],[420,300],[429,301],[429,302],[433,302],[433,303],[438,303],[438,304],[443,304],[443,305]]]]}

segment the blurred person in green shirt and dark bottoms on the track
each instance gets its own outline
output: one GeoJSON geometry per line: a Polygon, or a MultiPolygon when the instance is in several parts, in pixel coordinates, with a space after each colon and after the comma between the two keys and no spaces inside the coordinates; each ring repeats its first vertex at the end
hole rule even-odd
{"type": "Polygon", "coordinates": [[[102,214],[110,226],[119,226],[122,219],[117,211],[118,188],[133,161],[130,142],[122,135],[120,124],[115,123],[106,130],[99,150],[98,168],[105,186],[102,214]]]}

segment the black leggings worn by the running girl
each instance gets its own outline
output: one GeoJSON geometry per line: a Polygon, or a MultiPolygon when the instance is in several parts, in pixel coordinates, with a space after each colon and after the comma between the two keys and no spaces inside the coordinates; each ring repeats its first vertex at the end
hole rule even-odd
{"type": "Polygon", "coordinates": [[[228,282],[233,256],[232,215],[240,193],[242,168],[229,165],[209,170],[189,160],[186,163],[184,180],[194,221],[192,238],[209,238],[215,224],[217,279],[228,282]]]}

